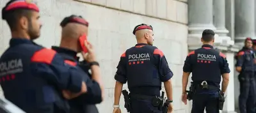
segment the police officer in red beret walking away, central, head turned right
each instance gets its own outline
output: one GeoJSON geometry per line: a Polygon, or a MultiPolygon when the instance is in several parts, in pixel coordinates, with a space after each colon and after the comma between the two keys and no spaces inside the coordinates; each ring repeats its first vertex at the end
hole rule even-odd
{"type": "Polygon", "coordinates": [[[160,113],[156,100],[160,96],[161,82],[164,82],[167,98],[172,106],[173,76],[161,50],[152,46],[154,33],[152,26],[140,24],[134,27],[137,44],[122,54],[115,75],[115,102],[113,112],[120,112],[119,101],[123,84],[128,82],[131,96],[131,113],[160,113]]]}

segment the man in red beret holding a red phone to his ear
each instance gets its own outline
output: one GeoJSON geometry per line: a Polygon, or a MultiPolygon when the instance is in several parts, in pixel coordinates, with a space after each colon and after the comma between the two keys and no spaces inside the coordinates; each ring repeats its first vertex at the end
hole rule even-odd
{"type": "Polygon", "coordinates": [[[53,50],[64,57],[66,63],[77,66],[86,73],[84,74],[84,80],[88,91],[86,94],[70,100],[70,112],[97,113],[98,110],[95,104],[102,102],[104,95],[99,63],[96,61],[92,45],[85,43],[88,51],[87,54],[82,53],[85,61],[79,62],[79,57],[77,57],[77,53],[82,51],[79,37],[88,34],[88,25],[88,22],[81,16],[70,15],[65,17],[60,24],[62,27],[60,47],[52,47],[53,50]],[[92,74],[89,73],[89,70],[92,70],[92,74]]]}

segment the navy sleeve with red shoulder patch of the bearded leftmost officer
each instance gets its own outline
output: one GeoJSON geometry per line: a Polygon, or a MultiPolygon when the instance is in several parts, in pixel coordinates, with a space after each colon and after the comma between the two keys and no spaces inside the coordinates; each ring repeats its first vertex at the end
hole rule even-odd
{"type": "Polygon", "coordinates": [[[53,50],[39,50],[31,57],[31,72],[42,77],[58,89],[68,89],[73,93],[81,91],[83,73],[76,66],[69,66],[53,50]]]}

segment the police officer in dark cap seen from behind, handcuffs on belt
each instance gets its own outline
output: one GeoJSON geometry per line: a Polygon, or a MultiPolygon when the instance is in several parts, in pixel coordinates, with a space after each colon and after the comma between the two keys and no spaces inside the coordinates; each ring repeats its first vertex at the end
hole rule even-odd
{"type": "Polygon", "coordinates": [[[204,30],[201,41],[202,48],[190,52],[183,66],[182,102],[187,104],[186,87],[192,72],[195,92],[191,113],[203,113],[205,109],[207,113],[218,113],[221,75],[220,93],[223,95],[228,86],[230,69],[225,55],[212,47],[214,31],[204,30]]]}

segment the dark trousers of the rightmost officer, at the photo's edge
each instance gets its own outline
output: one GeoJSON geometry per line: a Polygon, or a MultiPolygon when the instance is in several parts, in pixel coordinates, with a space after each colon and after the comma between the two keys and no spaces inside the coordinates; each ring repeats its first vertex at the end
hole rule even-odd
{"type": "Polygon", "coordinates": [[[238,78],[240,82],[239,110],[241,113],[255,113],[254,72],[243,72],[238,78]]]}

